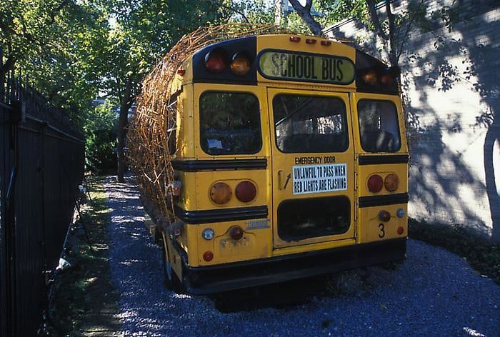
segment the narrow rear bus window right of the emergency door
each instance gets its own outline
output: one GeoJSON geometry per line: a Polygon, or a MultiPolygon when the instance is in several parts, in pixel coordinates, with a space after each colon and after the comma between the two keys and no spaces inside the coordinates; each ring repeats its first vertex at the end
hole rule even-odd
{"type": "Polygon", "coordinates": [[[395,152],[401,149],[396,106],[391,101],[358,102],[361,147],[366,152],[395,152]]]}

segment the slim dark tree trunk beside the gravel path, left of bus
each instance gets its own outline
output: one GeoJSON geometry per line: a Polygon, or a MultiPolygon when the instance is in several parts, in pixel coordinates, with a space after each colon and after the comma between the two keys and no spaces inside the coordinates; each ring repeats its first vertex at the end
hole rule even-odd
{"type": "Polygon", "coordinates": [[[129,109],[132,105],[132,97],[131,97],[131,80],[126,82],[124,94],[121,97],[120,104],[120,116],[119,116],[119,124],[118,124],[118,144],[116,145],[116,156],[117,156],[117,164],[116,168],[116,181],[120,183],[125,182],[125,153],[124,148],[126,147],[126,132],[129,126],[129,109]]]}

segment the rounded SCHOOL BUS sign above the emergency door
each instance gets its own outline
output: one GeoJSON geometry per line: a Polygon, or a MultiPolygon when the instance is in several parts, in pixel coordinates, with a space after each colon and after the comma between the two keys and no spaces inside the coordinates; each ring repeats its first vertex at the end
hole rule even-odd
{"type": "Polygon", "coordinates": [[[266,79],[351,84],[354,64],[342,56],[266,49],[259,54],[259,73],[266,79]]]}

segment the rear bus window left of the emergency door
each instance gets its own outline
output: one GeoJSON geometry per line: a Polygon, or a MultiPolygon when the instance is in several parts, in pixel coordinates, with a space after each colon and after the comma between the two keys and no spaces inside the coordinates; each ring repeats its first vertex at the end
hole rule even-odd
{"type": "Polygon", "coordinates": [[[262,147],[254,94],[205,92],[200,97],[201,149],[206,154],[256,154],[262,147]]]}

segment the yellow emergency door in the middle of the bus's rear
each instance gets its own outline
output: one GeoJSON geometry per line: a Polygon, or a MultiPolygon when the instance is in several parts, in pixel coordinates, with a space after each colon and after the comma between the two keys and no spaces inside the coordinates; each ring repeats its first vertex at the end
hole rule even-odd
{"type": "Polygon", "coordinates": [[[291,89],[268,89],[267,94],[274,248],[353,243],[354,142],[348,94],[291,89]]]}

